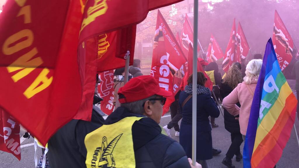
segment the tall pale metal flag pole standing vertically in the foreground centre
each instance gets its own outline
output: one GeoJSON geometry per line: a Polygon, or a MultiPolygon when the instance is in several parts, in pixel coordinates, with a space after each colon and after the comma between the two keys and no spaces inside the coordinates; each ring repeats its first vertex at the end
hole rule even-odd
{"type": "Polygon", "coordinates": [[[196,103],[197,103],[197,33],[198,33],[198,0],[194,0],[194,33],[193,33],[193,83],[192,83],[192,164],[196,163],[196,103]]]}

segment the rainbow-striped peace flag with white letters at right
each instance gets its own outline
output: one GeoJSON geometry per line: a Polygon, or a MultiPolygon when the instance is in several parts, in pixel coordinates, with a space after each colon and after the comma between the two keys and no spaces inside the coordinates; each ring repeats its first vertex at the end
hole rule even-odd
{"type": "Polygon", "coordinates": [[[297,99],[283,76],[271,38],[252,101],[243,149],[243,167],[273,168],[295,121],[297,99]]]}

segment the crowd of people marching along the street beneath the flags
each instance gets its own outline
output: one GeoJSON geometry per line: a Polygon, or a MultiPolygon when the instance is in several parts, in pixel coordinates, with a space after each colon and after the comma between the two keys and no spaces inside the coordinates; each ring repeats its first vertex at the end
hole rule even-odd
{"type": "MultiPolygon", "coordinates": [[[[215,118],[219,117],[220,111],[216,102],[222,102],[225,129],[231,134],[231,145],[222,164],[234,168],[234,156],[236,161],[242,160],[240,146],[245,139],[251,102],[262,67],[262,58],[259,55],[256,57],[258,59],[252,59],[246,66],[235,62],[224,77],[216,62],[207,66],[207,63],[203,63],[203,68],[213,82],[212,92],[205,87],[208,79],[203,72],[191,74],[185,87],[175,95],[175,101],[170,106],[171,120],[164,127],[159,125],[163,105],[166,97],[172,93],[161,89],[154,77],[143,75],[141,62],[135,59],[133,66],[129,68],[128,83],[123,82],[124,68],[115,70],[115,111],[104,120],[105,114],[94,106],[90,122],[71,120],[60,128],[48,142],[49,165],[54,168],[114,168],[123,164],[142,168],[208,168],[207,160],[221,153],[221,150],[213,148],[212,128],[218,127],[215,118]],[[245,74],[242,74],[243,71],[245,74]],[[195,166],[190,159],[193,75],[197,75],[195,166]],[[119,130],[116,131],[115,128],[119,130]],[[179,142],[171,138],[172,128],[175,136],[179,137],[179,142]],[[87,145],[92,143],[99,145],[87,145]],[[115,146],[125,148],[119,152],[120,149],[116,150],[115,146]]],[[[295,63],[292,75],[296,77],[298,97],[299,61],[295,63]]],[[[97,85],[101,81],[98,76],[96,79],[93,105],[101,101],[97,96],[97,85]]]]}

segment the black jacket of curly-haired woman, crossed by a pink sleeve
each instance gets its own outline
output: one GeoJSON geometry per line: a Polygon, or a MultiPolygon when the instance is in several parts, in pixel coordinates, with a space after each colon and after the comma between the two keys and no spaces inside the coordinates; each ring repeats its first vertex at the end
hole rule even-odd
{"type": "MultiPolygon", "coordinates": [[[[222,98],[228,96],[232,91],[233,89],[226,83],[221,84],[220,95],[222,98]]],[[[240,107],[241,106],[240,103],[237,103],[237,106],[240,107]]],[[[233,116],[229,114],[229,112],[226,109],[224,109],[224,127],[226,130],[228,130],[228,132],[231,133],[240,132],[239,120],[236,120],[235,119],[236,117],[239,117],[239,115],[233,116]]]]}

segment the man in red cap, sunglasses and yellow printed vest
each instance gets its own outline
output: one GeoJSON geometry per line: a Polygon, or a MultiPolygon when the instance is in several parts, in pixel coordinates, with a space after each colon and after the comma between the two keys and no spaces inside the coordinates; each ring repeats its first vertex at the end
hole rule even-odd
{"type": "Polygon", "coordinates": [[[165,97],[172,93],[146,75],[132,78],[118,95],[120,107],[85,138],[86,166],[190,167],[182,146],[163,135],[158,125],[165,97]]]}

